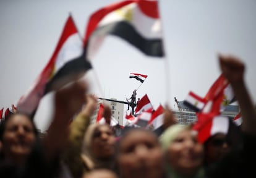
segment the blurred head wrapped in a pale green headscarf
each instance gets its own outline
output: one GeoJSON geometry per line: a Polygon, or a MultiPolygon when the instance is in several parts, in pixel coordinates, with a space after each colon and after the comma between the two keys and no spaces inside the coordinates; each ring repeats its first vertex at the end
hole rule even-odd
{"type": "Polygon", "coordinates": [[[191,176],[197,174],[203,163],[203,145],[188,125],[174,124],[161,135],[168,169],[191,176]]]}

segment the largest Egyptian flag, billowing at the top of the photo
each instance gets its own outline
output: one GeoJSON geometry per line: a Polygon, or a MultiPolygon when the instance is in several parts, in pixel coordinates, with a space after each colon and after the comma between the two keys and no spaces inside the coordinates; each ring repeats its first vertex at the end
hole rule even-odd
{"type": "Polygon", "coordinates": [[[116,35],[153,57],[164,56],[158,1],[121,1],[93,13],[85,32],[92,59],[106,35],[116,35]]]}

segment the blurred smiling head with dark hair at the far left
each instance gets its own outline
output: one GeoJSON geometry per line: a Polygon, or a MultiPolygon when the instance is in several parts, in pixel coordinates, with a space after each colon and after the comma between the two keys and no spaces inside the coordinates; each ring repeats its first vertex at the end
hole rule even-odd
{"type": "Polygon", "coordinates": [[[2,156],[22,163],[32,151],[38,132],[32,119],[26,114],[11,114],[0,124],[2,156]]]}

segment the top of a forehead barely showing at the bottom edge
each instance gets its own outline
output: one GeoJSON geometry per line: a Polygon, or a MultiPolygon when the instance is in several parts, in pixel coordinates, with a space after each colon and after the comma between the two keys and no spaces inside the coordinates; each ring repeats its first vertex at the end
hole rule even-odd
{"type": "Polygon", "coordinates": [[[84,174],[82,178],[117,178],[117,175],[109,169],[94,169],[84,174]]]}

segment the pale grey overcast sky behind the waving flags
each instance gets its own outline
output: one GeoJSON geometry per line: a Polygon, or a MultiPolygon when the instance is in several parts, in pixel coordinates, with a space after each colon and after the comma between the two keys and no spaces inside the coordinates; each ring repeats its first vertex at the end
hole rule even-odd
{"type": "MultiPolygon", "coordinates": [[[[0,108],[11,108],[50,59],[64,23],[72,14],[83,36],[90,14],[114,0],[1,0],[0,108]]],[[[204,96],[220,75],[217,55],[234,54],[246,65],[245,80],[256,100],[256,1],[160,0],[164,58],[147,57],[115,36],[108,36],[88,74],[92,93],[126,100],[134,89],[147,94],[155,108],[184,100],[189,91],[204,96]],[[148,75],[140,82],[130,72],[148,75]],[[96,84],[95,84],[96,83],[96,84]]],[[[35,116],[45,130],[51,118],[52,93],[41,100],[35,116]]],[[[127,106],[125,106],[126,108],[127,106]]]]}

